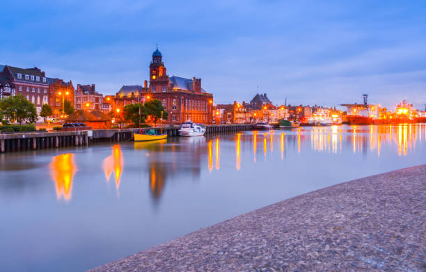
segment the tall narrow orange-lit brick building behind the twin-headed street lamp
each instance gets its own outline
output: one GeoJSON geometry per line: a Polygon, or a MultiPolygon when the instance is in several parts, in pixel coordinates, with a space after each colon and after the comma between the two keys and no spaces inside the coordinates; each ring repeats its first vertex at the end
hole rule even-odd
{"type": "Polygon", "coordinates": [[[49,83],[49,105],[53,109],[53,118],[60,118],[62,115],[62,103],[65,100],[74,106],[74,86],[72,81],[66,82],[63,79],[47,78],[49,83]]]}

